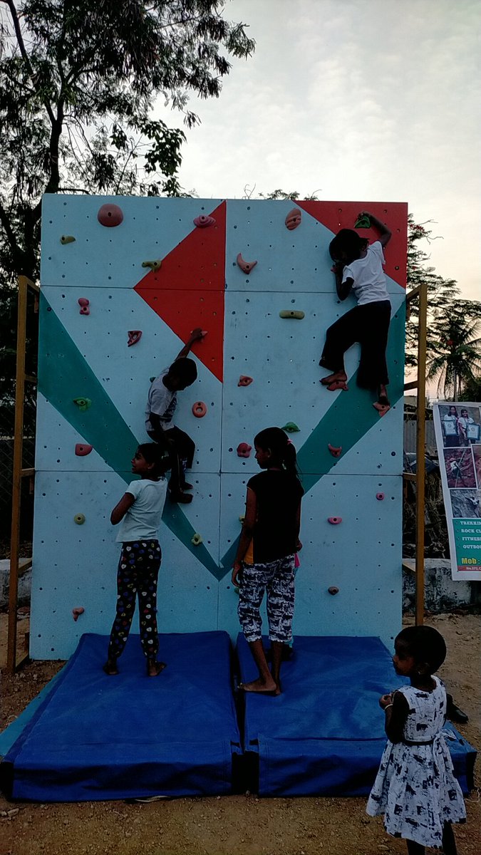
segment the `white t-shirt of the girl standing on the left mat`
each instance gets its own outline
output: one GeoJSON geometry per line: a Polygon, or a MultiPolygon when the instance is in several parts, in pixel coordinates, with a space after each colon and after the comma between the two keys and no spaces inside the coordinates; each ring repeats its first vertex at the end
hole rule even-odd
{"type": "Polygon", "coordinates": [[[125,492],[134,496],[134,504],[124,516],[117,543],[127,543],[129,540],[157,540],[158,529],[162,520],[163,505],[167,494],[167,481],[131,481],[125,492]]]}

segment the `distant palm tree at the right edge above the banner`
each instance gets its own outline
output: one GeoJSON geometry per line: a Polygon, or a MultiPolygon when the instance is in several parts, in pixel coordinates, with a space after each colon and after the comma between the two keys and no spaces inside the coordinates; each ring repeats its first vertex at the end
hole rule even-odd
{"type": "Polygon", "coordinates": [[[445,400],[457,401],[463,386],[481,372],[480,324],[478,317],[466,316],[462,304],[451,304],[448,311],[438,311],[432,319],[436,352],[428,360],[427,380],[437,380],[437,392],[445,400]]]}

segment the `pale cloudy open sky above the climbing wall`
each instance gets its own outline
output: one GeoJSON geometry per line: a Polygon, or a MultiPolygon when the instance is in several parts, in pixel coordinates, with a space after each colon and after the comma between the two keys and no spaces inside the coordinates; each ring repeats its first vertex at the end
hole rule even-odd
{"type": "MultiPolygon", "coordinates": [[[[227,0],[255,55],[191,102],[181,184],[201,198],[281,187],[407,202],[423,247],[480,298],[478,0],[227,0]]],[[[178,120],[172,115],[172,124],[178,120]]]]}

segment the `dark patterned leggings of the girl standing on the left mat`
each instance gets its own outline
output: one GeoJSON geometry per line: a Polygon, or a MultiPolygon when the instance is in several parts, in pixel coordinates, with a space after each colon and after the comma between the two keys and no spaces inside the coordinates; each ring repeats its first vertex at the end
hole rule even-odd
{"type": "Polygon", "coordinates": [[[162,552],[158,540],[122,543],[117,569],[116,619],[110,632],[109,659],[117,659],[128,640],[139,597],[140,644],[149,659],[158,652],[157,576],[162,552]]]}

